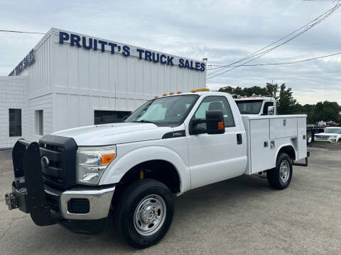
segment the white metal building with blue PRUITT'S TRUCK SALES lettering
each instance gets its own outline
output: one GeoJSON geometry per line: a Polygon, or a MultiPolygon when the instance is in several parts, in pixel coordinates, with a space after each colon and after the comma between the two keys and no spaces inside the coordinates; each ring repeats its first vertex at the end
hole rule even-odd
{"type": "Polygon", "coordinates": [[[156,95],[205,86],[205,62],[51,28],[0,77],[0,148],[119,122],[156,95]]]}

